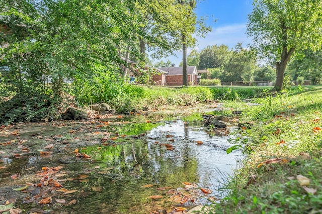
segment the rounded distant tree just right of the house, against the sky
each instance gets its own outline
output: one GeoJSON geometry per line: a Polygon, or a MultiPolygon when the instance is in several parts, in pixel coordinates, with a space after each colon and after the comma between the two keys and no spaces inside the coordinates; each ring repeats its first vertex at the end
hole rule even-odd
{"type": "Polygon", "coordinates": [[[226,45],[207,46],[200,53],[199,68],[223,68],[231,53],[232,51],[226,45]]]}

